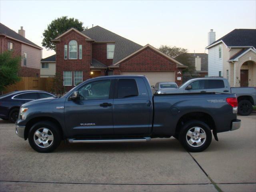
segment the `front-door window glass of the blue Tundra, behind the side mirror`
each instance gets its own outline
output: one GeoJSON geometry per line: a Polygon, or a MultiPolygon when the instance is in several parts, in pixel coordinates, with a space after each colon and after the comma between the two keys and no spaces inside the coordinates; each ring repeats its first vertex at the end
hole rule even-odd
{"type": "Polygon", "coordinates": [[[79,88],[80,100],[108,99],[111,80],[102,80],[88,83],[79,88]]]}

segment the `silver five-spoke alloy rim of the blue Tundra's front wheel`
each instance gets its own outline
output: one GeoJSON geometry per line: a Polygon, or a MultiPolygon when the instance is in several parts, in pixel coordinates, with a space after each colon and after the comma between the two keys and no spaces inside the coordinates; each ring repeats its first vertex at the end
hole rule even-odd
{"type": "Polygon", "coordinates": [[[48,148],[53,144],[53,134],[48,128],[39,128],[34,133],[34,142],[40,148],[48,148]]]}

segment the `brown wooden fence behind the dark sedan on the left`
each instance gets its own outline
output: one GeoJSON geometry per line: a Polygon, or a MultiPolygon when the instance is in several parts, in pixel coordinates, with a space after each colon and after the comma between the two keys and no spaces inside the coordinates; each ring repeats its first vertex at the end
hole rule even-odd
{"type": "Polygon", "coordinates": [[[8,86],[3,94],[15,90],[42,90],[51,92],[54,78],[43,77],[21,77],[20,81],[16,84],[8,86]]]}

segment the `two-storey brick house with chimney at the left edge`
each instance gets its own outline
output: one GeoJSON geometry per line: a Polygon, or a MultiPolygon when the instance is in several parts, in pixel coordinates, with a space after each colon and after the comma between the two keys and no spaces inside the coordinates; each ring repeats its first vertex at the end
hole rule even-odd
{"type": "Polygon", "coordinates": [[[40,76],[42,48],[25,38],[23,27],[16,33],[0,23],[0,53],[4,51],[13,52],[13,56],[21,56],[18,76],[40,76]]]}

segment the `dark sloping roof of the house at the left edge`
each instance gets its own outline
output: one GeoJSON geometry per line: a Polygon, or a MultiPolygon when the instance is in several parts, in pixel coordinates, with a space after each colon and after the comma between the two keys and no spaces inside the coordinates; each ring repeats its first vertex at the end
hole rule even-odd
{"type": "Polygon", "coordinates": [[[22,35],[16,33],[14,30],[11,30],[10,28],[8,28],[7,26],[5,26],[2,23],[0,23],[0,35],[7,36],[8,38],[12,38],[12,39],[22,42],[24,44],[31,45],[38,49],[42,49],[40,46],[38,46],[38,45],[34,44],[32,41],[24,38],[22,35]]]}

